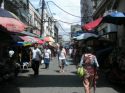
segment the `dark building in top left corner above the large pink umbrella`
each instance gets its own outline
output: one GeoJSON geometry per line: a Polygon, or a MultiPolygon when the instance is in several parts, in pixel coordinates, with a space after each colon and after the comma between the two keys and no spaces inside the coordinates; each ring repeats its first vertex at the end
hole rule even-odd
{"type": "Polygon", "coordinates": [[[2,0],[4,9],[14,13],[19,19],[28,25],[29,22],[29,15],[28,15],[28,8],[29,8],[29,0],[2,0]]]}

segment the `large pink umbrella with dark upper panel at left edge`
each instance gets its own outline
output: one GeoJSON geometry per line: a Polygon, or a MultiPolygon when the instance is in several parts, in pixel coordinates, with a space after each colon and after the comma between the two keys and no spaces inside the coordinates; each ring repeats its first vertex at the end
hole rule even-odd
{"type": "Polygon", "coordinates": [[[22,32],[27,27],[20,20],[16,19],[12,13],[0,8],[0,25],[10,32],[22,32]]]}

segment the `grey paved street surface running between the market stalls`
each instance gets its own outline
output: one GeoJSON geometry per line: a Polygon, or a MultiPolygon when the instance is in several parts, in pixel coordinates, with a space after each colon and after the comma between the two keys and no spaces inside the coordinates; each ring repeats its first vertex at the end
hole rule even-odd
{"type": "MultiPolygon", "coordinates": [[[[57,59],[53,58],[50,68],[40,66],[40,75],[33,76],[31,68],[20,73],[11,83],[0,87],[0,93],[84,93],[82,82],[76,76],[74,65],[65,67],[64,73],[59,73],[57,59]]],[[[125,88],[114,86],[101,75],[97,83],[96,93],[125,93],[125,88]]]]}

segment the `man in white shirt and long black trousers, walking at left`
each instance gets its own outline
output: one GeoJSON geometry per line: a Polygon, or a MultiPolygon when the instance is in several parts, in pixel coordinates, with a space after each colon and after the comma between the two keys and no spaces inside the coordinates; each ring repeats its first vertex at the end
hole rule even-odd
{"type": "Polygon", "coordinates": [[[38,43],[34,44],[34,48],[31,51],[32,53],[32,69],[34,71],[34,75],[38,75],[39,74],[39,65],[41,62],[41,58],[42,58],[42,53],[40,51],[40,49],[38,48],[38,43]]]}

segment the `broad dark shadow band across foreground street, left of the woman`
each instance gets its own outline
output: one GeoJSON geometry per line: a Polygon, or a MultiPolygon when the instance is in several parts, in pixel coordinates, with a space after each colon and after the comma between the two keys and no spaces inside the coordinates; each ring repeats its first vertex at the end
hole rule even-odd
{"type": "Polygon", "coordinates": [[[75,75],[20,76],[16,84],[18,87],[83,87],[75,75]]]}

